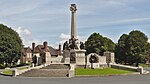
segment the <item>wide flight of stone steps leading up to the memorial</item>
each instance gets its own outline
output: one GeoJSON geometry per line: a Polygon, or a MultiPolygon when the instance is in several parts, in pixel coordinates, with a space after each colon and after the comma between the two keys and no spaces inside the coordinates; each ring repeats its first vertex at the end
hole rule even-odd
{"type": "Polygon", "coordinates": [[[41,69],[31,69],[21,77],[68,77],[69,66],[65,64],[51,64],[41,69]]]}

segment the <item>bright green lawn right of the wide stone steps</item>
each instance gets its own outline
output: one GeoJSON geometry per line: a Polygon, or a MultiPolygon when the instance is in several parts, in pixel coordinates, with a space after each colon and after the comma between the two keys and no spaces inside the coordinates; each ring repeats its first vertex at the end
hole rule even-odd
{"type": "Polygon", "coordinates": [[[101,75],[118,75],[118,74],[129,74],[133,73],[133,71],[128,70],[120,70],[113,68],[104,68],[104,69],[82,69],[76,68],[75,75],[76,76],[101,76],[101,75]]]}

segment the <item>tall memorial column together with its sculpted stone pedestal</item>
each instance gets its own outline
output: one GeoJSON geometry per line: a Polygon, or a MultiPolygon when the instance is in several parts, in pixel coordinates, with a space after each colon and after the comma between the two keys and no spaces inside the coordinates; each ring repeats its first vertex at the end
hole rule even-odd
{"type": "MultiPolygon", "coordinates": [[[[71,38],[69,43],[66,41],[63,48],[63,57],[65,63],[71,63],[75,65],[85,65],[85,52],[86,50],[80,49],[76,34],[76,4],[71,4],[71,38]]],[[[71,70],[69,76],[72,77],[73,71],[71,70]]]]}

